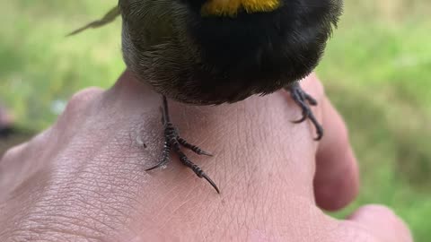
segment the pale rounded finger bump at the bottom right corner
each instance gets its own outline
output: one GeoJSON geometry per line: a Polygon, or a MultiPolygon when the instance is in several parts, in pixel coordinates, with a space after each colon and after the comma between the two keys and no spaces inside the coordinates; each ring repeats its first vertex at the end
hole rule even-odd
{"type": "Polygon", "coordinates": [[[350,215],[348,220],[372,234],[377,241],[411,242],[413,238],[407,225],[387,207],[366,205],[350,215]]]}

